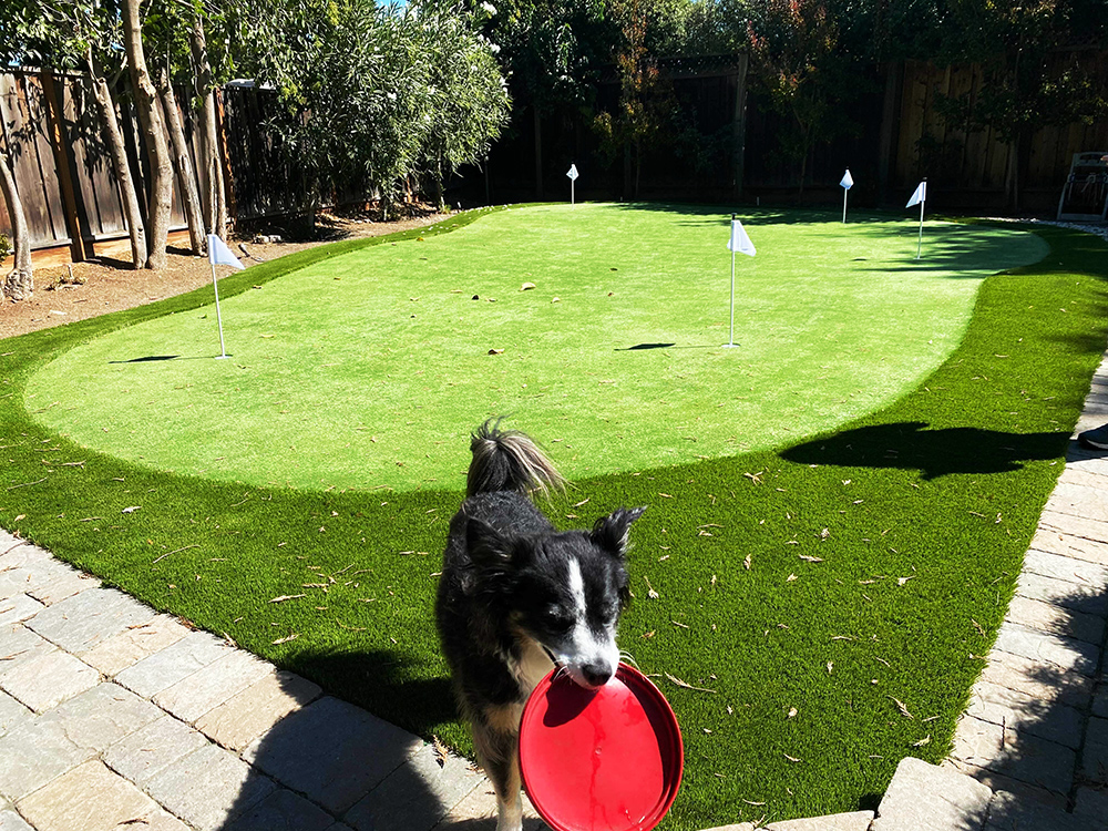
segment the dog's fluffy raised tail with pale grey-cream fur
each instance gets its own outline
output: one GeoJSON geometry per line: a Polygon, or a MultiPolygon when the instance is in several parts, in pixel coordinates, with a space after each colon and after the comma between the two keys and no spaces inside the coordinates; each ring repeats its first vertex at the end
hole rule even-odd
{"type": "Polygon", "coordinates": [[[525,433],[501,430],[500,419],[490,419],[470,437],[473,461],[466,480],[470,496],[492,491],[523,495],[565,489],[565,479],[525,433]]]}

